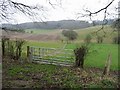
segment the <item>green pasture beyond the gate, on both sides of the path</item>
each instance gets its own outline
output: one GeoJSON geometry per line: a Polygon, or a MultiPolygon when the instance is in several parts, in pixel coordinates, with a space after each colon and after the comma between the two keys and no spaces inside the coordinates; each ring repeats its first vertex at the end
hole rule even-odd
{"type": "MultiPolygon", "coordinates": [[[[62,48],[65,44],[61,42],[28,42],[25,47],[47,47],[47,48],[62,48]]],[[[67,44],[65,49],[75,49],[80,46],[79,43],[67,44]]],[[[67,52],[66,52],[67,53],[67,52]]],[[[85,58],[85,67],[97,67],[104,68],[105,62],[108,58],[108,54],[111,53],[111,69],[118,70],[118,45],[117,44],[96,44],[91,43],[89,46],[89,53],[85,58]]],[[[58,55],[57,55],[58,56],[58,55]]],[[[73,62],[73,61],[72,61],[73,62]]]]}

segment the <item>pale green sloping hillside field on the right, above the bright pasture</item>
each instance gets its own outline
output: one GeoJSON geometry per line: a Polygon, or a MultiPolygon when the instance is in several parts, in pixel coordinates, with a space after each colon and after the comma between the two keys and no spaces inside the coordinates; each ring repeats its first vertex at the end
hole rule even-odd
{"type": "MultiPolygon", "coordinates": [[[[86,35],[91,34],[92,41],[96,42],[96,34],[94,32],[98,31],[101,28],[101,26],[95,26],[95,27],[89,27],[85,29],[78,29],[75,30],[78,33],[78,40],[84,40],[86,35]],[[93,33],[93,34],[92,34],[93,33]]],[[[105,37],[103,37],[104,41],[103,43],[112,43],[112,39],[114,36],[116,36],[118,33],[113,32],[113,28],[111,26],[106,25],[103,30],[99,31],[97,34],[99,36],[103,36],[105,31],[105,37]]]]}

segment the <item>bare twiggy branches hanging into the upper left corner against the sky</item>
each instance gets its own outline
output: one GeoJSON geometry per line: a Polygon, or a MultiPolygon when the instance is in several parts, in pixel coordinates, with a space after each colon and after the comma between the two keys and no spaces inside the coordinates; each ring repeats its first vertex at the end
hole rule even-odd
{"type": "MultiPolygon", "coordinates": [[[[38,14],[38,11],[43,15],[45,13],[46,8],[44,6],[35,5],[30,6],[23,3],[15,2],[12,0],[0,0],[0,21],[13,20],[13,15],[15,13],[22,13],[30,18],[35,19],[38,14]]],[[[41,16],[39,19],[43,21],[41,16]]],[[[37,18],[38,19],[38,18],[37,18]]]]}

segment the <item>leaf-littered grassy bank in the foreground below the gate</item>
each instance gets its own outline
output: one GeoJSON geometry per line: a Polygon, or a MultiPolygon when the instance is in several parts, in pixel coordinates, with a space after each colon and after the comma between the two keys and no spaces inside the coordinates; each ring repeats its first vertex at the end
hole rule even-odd
{"type": "Polygon", "coordinates": [[[4,59],[3,88],[116,88],[115,72],[101,78],[103,70],[46,64],[16,63],[4,59]],[[7,63],[6,63],[7,61],[7,63]],[[12,64],[11,64],[12,63],[12,64]],[[113,77],[114,76],[114,77],[113,77]]]}

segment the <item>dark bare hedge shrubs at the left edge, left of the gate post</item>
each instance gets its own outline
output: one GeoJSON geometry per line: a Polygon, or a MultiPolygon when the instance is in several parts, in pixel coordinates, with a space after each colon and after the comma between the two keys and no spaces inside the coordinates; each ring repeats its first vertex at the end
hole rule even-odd
{"type": "Polygon", "coordinates": [[[20,59],[22,53],[22,47],[25,44],[25,40],[16,39],[10,40],[9,38],[2,38],[2,55],[9,56],[11,59],[20,59]]]}

